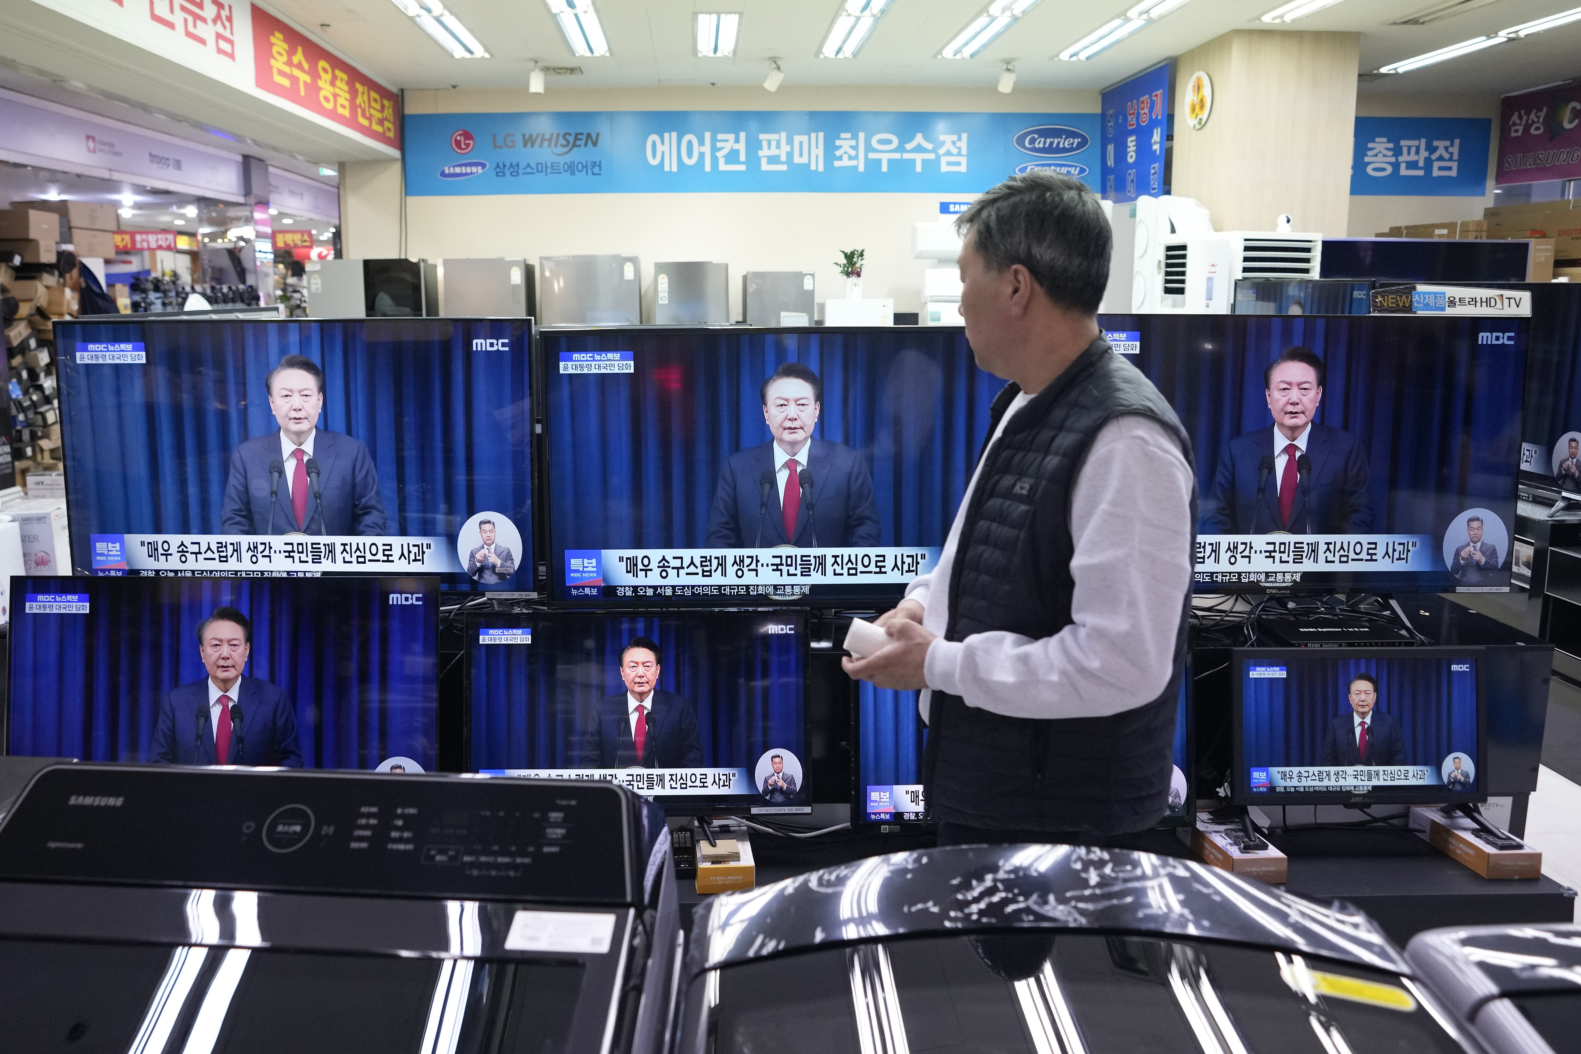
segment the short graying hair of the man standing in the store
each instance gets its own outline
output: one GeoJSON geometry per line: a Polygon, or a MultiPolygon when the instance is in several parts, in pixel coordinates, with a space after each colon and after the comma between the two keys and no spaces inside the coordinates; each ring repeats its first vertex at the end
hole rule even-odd
{"type": "Polygon", "coordinates": [[[1043,169],[1012,175],[974,201],[955,229],[975,235],[994,273],[1021,264],[1056,305],[1097,314],[1113,234],[1097,194],[1080,180],[1043,169]]]}

